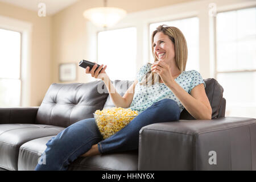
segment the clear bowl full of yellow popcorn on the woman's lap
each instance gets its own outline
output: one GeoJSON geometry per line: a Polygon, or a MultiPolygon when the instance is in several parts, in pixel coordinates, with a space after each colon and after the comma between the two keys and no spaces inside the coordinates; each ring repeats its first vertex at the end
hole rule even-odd
{"type": "Polygon", "coordinates": [[[138,111],[112,107],[96,110],[93,115],[103,139],[106,139],[128,125],[131,120],[137,117],[138,111]]]}

